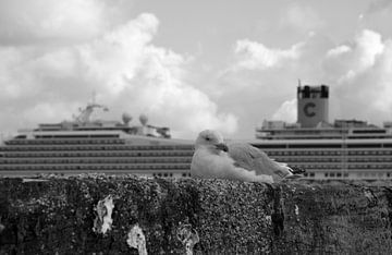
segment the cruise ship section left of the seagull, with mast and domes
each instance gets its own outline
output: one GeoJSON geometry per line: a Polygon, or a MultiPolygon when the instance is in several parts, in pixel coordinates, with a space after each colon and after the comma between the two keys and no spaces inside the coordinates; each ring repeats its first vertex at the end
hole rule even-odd
{"type": "Polygon", "coordinates": [[[188,177],[194,146],[192,141],[171,138],[169,127],[131,125],[122,121],[91,120],[99,104],[87,104],[72,121],[39,124],[21,130],[0,145],[0,177],[45,173],[144,174],[188,177]]]}

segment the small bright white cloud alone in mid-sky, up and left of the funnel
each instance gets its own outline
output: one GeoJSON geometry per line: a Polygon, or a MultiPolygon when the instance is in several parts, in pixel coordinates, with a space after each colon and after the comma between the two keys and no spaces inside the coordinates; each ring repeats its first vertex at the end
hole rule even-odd
{"type": "Polygon", "coordinates": [[[290,49],[267,48],[265,45],[242,39],[236,41],[235,54],[238,62],[235,70],[265,70],[269,68],[279,68],[287,60],[296,60],[301,56],[303,44],[293,45],[290,49]]]}

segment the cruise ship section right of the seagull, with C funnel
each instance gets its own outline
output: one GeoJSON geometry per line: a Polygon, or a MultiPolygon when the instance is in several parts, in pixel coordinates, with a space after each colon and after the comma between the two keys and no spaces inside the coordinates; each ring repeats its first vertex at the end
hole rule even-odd
{"type": "Polygon", "coordinates": [[[307,179],[392,179],[392,122],[328,120],[329,86],[297,87],[297,122],[265,120],[248,141],[307,179]]]}

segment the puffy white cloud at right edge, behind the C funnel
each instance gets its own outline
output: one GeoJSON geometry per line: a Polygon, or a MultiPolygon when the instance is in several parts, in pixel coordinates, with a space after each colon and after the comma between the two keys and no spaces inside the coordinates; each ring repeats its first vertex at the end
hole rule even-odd
{"type": "Polygon", "coordinates": [[[339,85],[332,88],[341,104],[339,111],[380,124],[391,118],[392,111],[392,40],[365,29],[347,48],[342,53],[327,54],[323,63],[326,75],[339,85]]]}

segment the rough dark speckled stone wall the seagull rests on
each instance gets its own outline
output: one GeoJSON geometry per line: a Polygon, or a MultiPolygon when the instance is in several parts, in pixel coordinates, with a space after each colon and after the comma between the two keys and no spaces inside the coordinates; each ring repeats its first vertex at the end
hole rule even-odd
{"type": "Polygon", "coordinates": [[[0,254],[391,254],[391,191],[301,180],[0,179],[0,254]],[[102,234],[93,230],[95,208],[109,195],[112,226],[102,234]]]}

